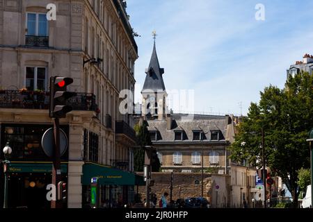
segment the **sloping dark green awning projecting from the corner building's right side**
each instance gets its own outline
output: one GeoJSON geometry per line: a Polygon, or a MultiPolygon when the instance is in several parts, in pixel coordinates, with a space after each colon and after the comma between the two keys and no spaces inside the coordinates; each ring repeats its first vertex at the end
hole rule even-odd
{"type": "Polygon", "coordinates": [[[99,178],[99,185],[145,185],[143,176],[88,162],[83,165],[81,183],[90,185],[91,178],[99,178]]]}

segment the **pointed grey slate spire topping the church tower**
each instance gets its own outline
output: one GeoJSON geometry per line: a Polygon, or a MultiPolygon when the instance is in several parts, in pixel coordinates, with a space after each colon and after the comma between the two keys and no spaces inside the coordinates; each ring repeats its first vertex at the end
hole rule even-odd
{"type": "MultiPolygon", "coordinates": [[[[154,36],[155,37],[155,36],[154,36]]],[[[165,91],[165,85],[163,82],[162,74],[164,74],[164,69],[160,68],[159,60],[157,56],[157,49],[155,46],[155,39],[153,45],[152,56],[150,59],[149,67],[146,69],[145,73],[145,83],[143,84],[143,90],[150,89],[150,90],[163,90],[165,91]]]]}

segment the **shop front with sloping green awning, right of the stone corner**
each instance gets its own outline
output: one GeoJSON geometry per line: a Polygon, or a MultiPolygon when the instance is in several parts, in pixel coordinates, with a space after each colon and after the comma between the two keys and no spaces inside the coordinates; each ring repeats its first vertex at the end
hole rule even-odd
{"type": "Polygon", "coordinates": [[[134,203],[134,186],[144,186],[143,176],[101,164],[86,162],[83,165],[83,207],[90,207],[90,184],[98,178],[100,207],[123,207],[134,203]]]}

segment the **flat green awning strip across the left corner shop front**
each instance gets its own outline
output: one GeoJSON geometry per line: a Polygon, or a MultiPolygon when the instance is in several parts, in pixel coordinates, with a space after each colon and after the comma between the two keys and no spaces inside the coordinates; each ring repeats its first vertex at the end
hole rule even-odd
{"type": "MultiPolygon", "coordinates": [[[[11,162],[10,173],[51,173],[51,162],[11,162]]],[[[61,173],[67,173],[67,164],[61,164],[61,173]]]]}

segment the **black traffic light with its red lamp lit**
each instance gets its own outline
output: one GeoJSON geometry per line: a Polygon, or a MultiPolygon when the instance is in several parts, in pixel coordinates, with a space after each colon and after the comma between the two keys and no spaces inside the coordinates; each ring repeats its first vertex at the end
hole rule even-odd
{"type": "Polygon", "coordinates": [[[67,99],[76,96],[76,92],[67,92],[67,85],[73,83],[72,78],[52,76],[50,78],[49,117],[65,118],[72,106],[66,105],[67,99]]]}

